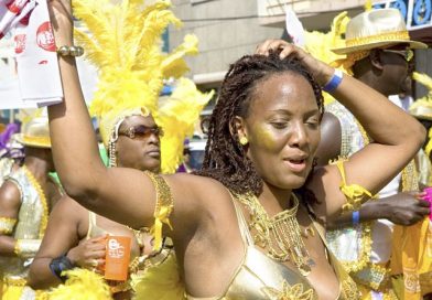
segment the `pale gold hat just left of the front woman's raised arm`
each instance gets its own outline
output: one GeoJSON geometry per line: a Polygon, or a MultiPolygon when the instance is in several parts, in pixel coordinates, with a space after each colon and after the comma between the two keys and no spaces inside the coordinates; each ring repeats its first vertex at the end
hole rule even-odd
{"type": "Polygon", "coordinates": [[[22,109],[19,115],[21,132],[13,135],[13,139],[25,147],[51,148],[46,114],[42,109],[22,109]]]}

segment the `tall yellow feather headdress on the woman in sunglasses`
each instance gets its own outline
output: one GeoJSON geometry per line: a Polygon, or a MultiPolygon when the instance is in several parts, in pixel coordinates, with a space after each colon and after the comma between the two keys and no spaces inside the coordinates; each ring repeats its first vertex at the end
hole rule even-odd
{"type": "MultiPolygon", "coordinates": [[[[197,39],[186,35],[183,43],[171,53],[161,51],[161,35],[169,24],[181,25],[181,21],[169,10],[170,1],[123,0],[112,4],[109,0],[73,1],[74,15],[82,20],[85,29],[76,29],[75,36],[86,52],[86,57],[99,69],[98,89],[90,104],[90,114],[99,118],[100,133],[105,147],[115,142],[119,124],[132,115],[151,114],[165,135],[161,139],[162,172],[174,172],[182,159],[186,133],[191,133],[199,111],[212,94],[202,94],[194,84],[188,84],[188,103],[172,104],[181,114],[188,105],[195,109],[194,119],[172,126],[175,119],[163,117],[159,95],[166,78],[180,78],[188,71],[183,57],[197,53],[197,39]],[[88,33],[89,32],[89,33],[88,33]],[[193,104],[193,105],[192,105],[193,104]],[[191,125],[192,124],[192,125],[191,125]],[[171,132],[171,129],[175,129],[171,132]],[[174,138],[175,137],[175,138],[174,138]],[[171,151],[172,150],[172,151],[171,151]]],[[[179,86],[183,85],[180,81],[179,86]]],[[[179,88],[179,87],[177,87],[179,88]]],[[[175,97],[168,101],[174,101],[175,97]]],[[[108,149],[108,148],[107,148],[108,149]]]]}

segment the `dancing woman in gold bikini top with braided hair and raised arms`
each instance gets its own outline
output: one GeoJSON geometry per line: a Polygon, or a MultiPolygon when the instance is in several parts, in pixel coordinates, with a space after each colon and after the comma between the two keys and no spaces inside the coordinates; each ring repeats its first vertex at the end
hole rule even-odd
{"type": "MultiPolygon", "coordinates": [[[[57,46],[72,46],[69,1],[50,1],[50,7],[57,46]]],[[[75,60],[61,55],[58,62],[65,99],[50,107],[50,117],[65,190],[116,222],[153,225],[155,246],[162,233],[172,237],[187,298],[359,298],[315,221],[357,206],[368,197],[365,189],[374,194],[412,158],[424,139],[412,117],[301,49],[269,41],[230,66],[199,174],[107,169],[75,60]],[[375,142],[345,163],[312,171],[321,86],[350,109],[375,142]],[[71,130],[80,135],[66,136],[71,130]],[[87,172],[77,176],[77,169],[87,172]]]]}

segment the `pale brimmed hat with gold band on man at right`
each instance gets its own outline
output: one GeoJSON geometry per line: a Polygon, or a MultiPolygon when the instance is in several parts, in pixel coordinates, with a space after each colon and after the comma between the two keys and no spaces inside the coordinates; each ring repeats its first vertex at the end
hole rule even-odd
{"type": "Polygon", "coordinates": [[[397,44],[407,44],[410,49],[425,49],[426,44],[412,41],[403,17],[397,9],[376,9],[365,11],[353,18],[346,26],[345,45],[334,47],[336,54],[346,58],[333,65],[343,66],[352,74],[355,62],[369,55],[372,49],[386,49],[397,44]]]}

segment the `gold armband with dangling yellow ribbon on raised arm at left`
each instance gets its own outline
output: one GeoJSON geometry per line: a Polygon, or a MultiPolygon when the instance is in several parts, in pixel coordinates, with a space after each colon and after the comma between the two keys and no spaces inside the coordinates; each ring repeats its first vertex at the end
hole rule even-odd
{"type": "Polygon", "coordinates": [[[166,184],[166,181],[158,174],[145,171],[144,172],[154,184],[156,190],[156,204],[154,207],[154,225],[151,228],[151,233],[154,237],[153,250],[158,250],[162,247],[162,225],[165,223],[172,229],[170,223],[170,215],[174,207],[174,200],[171,194],[171,189],[166,184]]]}

